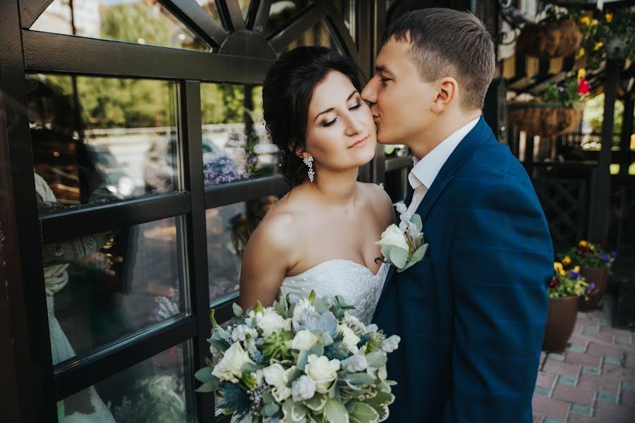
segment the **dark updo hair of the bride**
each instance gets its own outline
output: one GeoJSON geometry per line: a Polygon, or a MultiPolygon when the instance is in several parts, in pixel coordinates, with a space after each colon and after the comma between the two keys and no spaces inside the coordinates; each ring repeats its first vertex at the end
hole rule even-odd
{"type": "Polygon", "coordinates": [[[327,47],[287,51],[265,77],[262,86],[265,127],[280,150],[280,169],[291,188],[307,178],[308,168],[296,152],[306,149],[306,123],[313,91],[331,71],[345,75],[361,92],[355,62],[327,47]]]}

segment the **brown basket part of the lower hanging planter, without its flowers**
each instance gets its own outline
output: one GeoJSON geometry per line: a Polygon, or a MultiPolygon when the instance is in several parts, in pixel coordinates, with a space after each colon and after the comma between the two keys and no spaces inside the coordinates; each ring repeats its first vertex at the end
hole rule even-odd
{"type": "Polygon", "coordinates": [[[555,137],[575,132],[582,120],[583,104],[565,106],[540,99],[509,104],[509,122],[529,135],[555,137]]]}

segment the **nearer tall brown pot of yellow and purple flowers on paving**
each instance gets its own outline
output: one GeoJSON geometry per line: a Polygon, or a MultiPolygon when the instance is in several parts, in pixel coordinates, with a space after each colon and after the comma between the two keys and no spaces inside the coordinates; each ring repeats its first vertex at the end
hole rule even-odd
{"type": "Polygon", "coordinates": [[[569,271],[561,262],[553,264],[553,278],[547,288],[549,306],[543,350],[562,351],[567,348],[578,314],[578,299],[587,287],[586,281],[576,266],[569,271]]]}

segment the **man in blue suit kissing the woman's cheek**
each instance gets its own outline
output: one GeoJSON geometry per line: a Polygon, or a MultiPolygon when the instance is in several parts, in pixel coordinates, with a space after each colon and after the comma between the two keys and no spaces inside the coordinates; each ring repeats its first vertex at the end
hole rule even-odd
{"type": "Polygon", "coordinates": [[[406,205],[429,244],[375,312],[401,336],[389,422],[532,422],[553,252],[526,171],[480,116],[494,49],[470,13],[407,13],[362,92],[377,139],[413,152],[406,205]]]}

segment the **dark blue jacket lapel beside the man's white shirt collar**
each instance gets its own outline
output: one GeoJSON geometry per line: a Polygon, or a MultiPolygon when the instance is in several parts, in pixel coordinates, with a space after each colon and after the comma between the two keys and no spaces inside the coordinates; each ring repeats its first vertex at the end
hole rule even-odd
{"type": "Polygon", "coordinates": [[[492,130],[490,130],[488,124],[485,123],[483,116],[481,116],[476,126],[459,142],[454,152],[450,154],[432,186],[430,186],[423,200],[421,200],[421,204],[419,204],[417,208],[417,214],[421,216],[422,221],[425,222],[425,219],[428,218],[428,214],[430,214],[430,210],[433,209],[435,202],[437,202],[442,192],[454,178],[454,173],[461,168],[464,161],[471,157],[480,145],[483,145],[485,141],[490,139],[490,136],[493,136],[492,130]]]}

